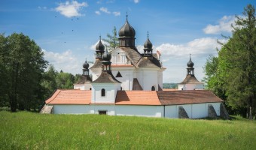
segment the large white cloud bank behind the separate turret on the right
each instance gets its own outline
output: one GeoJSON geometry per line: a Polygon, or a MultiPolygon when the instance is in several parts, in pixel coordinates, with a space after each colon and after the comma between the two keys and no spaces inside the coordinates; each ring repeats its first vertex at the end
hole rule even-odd
{"type": "MultiPolygon", "coordinates": [[[[221,40],[221,42],[225,42],[225,40],[221,40]]],[[[205,76],[202,67],[206,63],[206,58],[210,54],[217,55],[216,48],[221,48],[221,45],[217,43],[217,38],[203,37],[182,44],[162,43],[156,46],[153,52],[160,51],[163,66],[167,68],[163,72],[163,81],[165,83],[181,83],[186,76],[189,54],[195,64],[197,80],[200,81],[205,76]]]]}

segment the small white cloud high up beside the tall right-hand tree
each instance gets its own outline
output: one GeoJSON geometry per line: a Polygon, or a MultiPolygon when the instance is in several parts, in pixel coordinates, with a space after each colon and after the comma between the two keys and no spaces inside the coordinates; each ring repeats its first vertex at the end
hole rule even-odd
{"type": "Polygon", "coordinates": [[[231,32],[231,24],[235,23],[236,17],[234,16],[224,16],[218,21],[218,25],[208,25],[203,28],[206,34],[221,34],[221,32],[231,32]]]}

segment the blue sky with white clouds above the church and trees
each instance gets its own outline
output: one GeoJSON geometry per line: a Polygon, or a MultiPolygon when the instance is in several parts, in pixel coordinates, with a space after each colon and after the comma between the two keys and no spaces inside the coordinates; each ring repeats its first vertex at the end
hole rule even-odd
{"type": "Polygon", "coordinates": [[[195,75],[216,55],[221,34],[231,34],[235,15],[256,0],[1,0],[0,32],[28,35],[44,50],[57,71],[82,74],[85,59],[94,61],[95,45],[125,23],[136,30],[136,46],[149,38],[162,54],[164,83],[181,83],[191,54],[195,75]]]}

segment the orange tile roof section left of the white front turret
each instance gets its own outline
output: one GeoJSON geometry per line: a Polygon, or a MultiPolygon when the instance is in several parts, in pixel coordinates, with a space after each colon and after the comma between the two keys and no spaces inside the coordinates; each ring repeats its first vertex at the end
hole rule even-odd
{"type": "Polygon", "coordinates": [[[57,90],[46,104],[90,104],[92,91],[57,90]]]}

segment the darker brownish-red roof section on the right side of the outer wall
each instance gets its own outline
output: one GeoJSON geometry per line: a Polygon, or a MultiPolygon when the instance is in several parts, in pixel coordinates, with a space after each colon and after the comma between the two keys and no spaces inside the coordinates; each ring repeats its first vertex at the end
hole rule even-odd
{"type": "Polygon", "coordinates": [[[163,91],[157,92],[157,95],[160,103],[163,105],[222,102],[221,98],[218,98],[216,95],[208,90],[163,91]]]}

